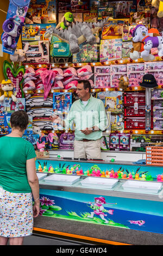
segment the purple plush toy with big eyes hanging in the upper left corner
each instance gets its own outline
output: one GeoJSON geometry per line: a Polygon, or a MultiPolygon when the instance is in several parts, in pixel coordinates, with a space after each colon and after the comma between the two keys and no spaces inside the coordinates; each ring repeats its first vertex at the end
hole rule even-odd
{"type": "Polygon", "coordinates": [[[4,47],[15,50],[17,46],[15,38],[21,35],[23,26],[24,23],[21,22],[19,17],[10,17],[8,20],[4,21],[2,26],[4,31],[2,36],[4,47]]]}

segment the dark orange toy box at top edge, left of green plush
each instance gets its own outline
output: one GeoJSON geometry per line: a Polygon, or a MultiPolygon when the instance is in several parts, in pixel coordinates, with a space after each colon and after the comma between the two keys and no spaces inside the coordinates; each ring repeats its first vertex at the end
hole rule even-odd
{"type": "Polygon", "coordinates": [[[30,5],[26,15],[26,24],[48,24],[56,22],[55,0],[35,0],[29,2],[30,5]]]}

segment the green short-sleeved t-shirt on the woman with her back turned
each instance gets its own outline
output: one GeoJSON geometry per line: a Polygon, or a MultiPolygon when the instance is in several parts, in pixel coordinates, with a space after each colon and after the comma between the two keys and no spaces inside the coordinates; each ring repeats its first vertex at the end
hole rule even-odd
{"type": "Polygon", "coordinates": [[[26,161],[36,157],[32,143],[21,137],[0,138],[0,186],[11,193],[31,193],[26,161]]]}

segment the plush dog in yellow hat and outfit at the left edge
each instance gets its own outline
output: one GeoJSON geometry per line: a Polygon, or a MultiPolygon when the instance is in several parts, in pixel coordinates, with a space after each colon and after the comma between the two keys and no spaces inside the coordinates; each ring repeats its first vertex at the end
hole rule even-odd
{"type": "Polygon", "coordinates": [[[3,101],[5,97],[11,97],[12,101],[14,102],[17,101],[17,97],[13,93],[15,85],[11,82],[11,80],[3,80],[1,83],[1,89],[3,90],[4,94],[0,97],[0,101],[3,101]]]}

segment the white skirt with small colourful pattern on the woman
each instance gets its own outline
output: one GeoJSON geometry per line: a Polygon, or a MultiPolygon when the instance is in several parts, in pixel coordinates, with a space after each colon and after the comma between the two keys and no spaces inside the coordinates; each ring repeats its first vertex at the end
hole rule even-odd
{"type": "Polygon", "coordinates": [[[32,193],[0,190],[0,236],[21,237],[32,232],[32,193]]]}

